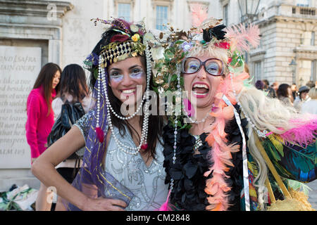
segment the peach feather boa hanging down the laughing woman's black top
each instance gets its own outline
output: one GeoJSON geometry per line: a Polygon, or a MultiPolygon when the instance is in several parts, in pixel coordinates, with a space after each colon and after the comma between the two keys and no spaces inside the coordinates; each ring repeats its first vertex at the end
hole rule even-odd
{"type": "Polygon", "coordinates": [[[222,97],[223,95],[227,96],[232,105],[235,105],[237,101],[233,90],[235,89],[239,93],[244,79],[247,78],[249,78],[249,75],[242,72],[242,74],[235,77],[232,75],[232,81],[230,74],[220,82],[215,96],[215,106],[218,109],[210,113],[216,120],[204,130],[209,134],[206,141],[212,148],[209,156],[213,162],[213,166],[204,174],[204,176],[209,176],[213,172],[213,177],[206,181],[205,192],[211,195],[207,198],[210,205],[206,207],[206,210],[225,211],[230,206],[227,197],[231,187],[225,182],[225,179],[228,178],[225,172],[229,171],[228,166],[234,167],[231,154],[238,152],[240,148],[234,144],[228,145],[228,140],[225,139],[227,135],[225,133],[225,123],[234,117],[234,109],[231,105],[226,105],[222,97]]]}

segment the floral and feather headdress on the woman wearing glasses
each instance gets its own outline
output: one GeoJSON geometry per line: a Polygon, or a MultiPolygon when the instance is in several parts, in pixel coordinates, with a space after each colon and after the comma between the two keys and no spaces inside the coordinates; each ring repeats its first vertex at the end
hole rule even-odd
{"type": "MultiPolygon", "coordinates": [[[[222,25],[221,21],[211,18],[188,32],[175,31],[173,27],[168,27],[169,36],[162,43],[163,58],[156,60],[154,68],[157,70],[156,85],[165,91],[176,91],[176,76],[180,72],[177,65],[195,47],[226,49],[228,52],[226,68],[235,74],[242,72],[244,70],[243,51],[249,51],[250,45],[254,47],[259,45],[259,28],[255,25],[250,25],[248,28],[243,25],[228,28],[222,25]]],[[[162,34],[161,37],[163,37],[162,34]]]]}

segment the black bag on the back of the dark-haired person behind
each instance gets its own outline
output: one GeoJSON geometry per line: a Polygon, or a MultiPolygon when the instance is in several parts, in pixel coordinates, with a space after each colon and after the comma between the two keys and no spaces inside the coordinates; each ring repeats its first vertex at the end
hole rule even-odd
{"type": "MultiPolygon", "coordinates": [[[[61,114],[54,122],[51,132],[47,137],[47,145],[51,146],[55,141],[64,136],[83,115],[85,115],[85,110],[80,102],[69,103],[66,101],[66,103],[62,105],[61,114]]],[[[78,160],[82,158],[84,152],[85,148],[81,148],[70,155],[67,160],[78,160]]]]}

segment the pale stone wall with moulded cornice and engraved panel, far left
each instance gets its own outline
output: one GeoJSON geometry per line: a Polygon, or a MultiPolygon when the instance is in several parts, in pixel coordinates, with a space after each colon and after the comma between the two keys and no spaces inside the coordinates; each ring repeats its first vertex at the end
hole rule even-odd
{"type": "MultiPolygon", "coordinates": [[[[17,110],[19,113],[12,113],[13,117],[19,118],[18,120],[2,121],[4,124],[11,124],[7,129],[8,134],[17,134],[12,137],[16,140],[24,140],[23,145],[18,146],[19,151],[15,150],[15,146],[8,148],[7,141],[11,137],[1,135],[1,154],[0,154],[0,191],[8,191],[13,184],[22,186],[28,184],[32,188],[39,188],[39,181],[32,175],[30,171],[30,147],[25,140],[25,122],[26,122],[26,99],[27,94],[32,89],[40,68],[48,63],[53,62],[58,65],[61,64],[61,51],[62,51],[62,27],[63,15],[70,11],[73,6],[66,1],[17,1],[8,0],[0,2],[0,46],[1,49],[6,49],[4,52],[1,50],[1,56],[7,58],[6,62],[1,62],[0,80],[1,80],[1,99],[0,103],[11,102],[15,106],[8,107],[8,110],[17,110]],[[53,13],[49,4],[53,4],[53,13]],[[30,49],[30,50],[27,50],[30,49]],[[32,55],[37,50],[37,69],[33,72],[17,72],[17,70],[7,70],[9,68],[18,68],[16,62],[18,60],[11,58],[23,58],[24,56],[32,55]],[[27,51],[26,51],[27,50],[27,51]],[[11,51],[12,52],[11,54],[11,51]],[[26,51],[26,52],[25,52],[26,51]],[[11,58],[10,58],[11,57],[11,58]],[[19,91],[24,91],[23,99],[17,100],[10,98],[8,86],[20,85],[19,80],[22,79],[30,81],[28,86],[18,86],[19,91]],[[4,81],[14,81],[14,84],[7,84],[4,86],[4,81]],[[31,84],[32,83],[32,84],[31,84]],[[4,90],[6,89],[6,90],[4,90]],[[4,92],[2,92],[2,90],[4,92]],[[19,101],[19,102],[18,102],[19,101]],[[20,120],[21,119],[21,120],[20,120]],[[23,120],[23,121],[22,121],[23,120]],[[17,132],[16,127],[20,127],[17,132]]],[[[20,92],[19,92],[20,93],[20,92]]],[[[13,93],[15,94],[15,93],[13,93]]],[[[21,95],[19,95],[21,96],[21,95]]],[[[1,118],[8,115],[4,112],[5,108],[1,107],[1,118]]],[[[1,125],[2,126],[2,125],[1,125]]],[[[3,131],[3,129],[1,129],[3,131]]]]}

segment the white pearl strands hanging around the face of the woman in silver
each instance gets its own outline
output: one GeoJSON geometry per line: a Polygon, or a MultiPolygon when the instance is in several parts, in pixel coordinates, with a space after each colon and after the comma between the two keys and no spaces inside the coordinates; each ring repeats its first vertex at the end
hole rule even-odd
{"type": "Polygon", "coordinates": [[[102,56],[99,56],[99,79],[98,79],[98,100],[97,100],[97,126],[99,127],[99,111],[100,111],[100,88],[101,88],[101,83],[104,88],[104,96],[106,98],[106,111],[107,111],[107,121],[108,121],[108,126],[111,130],[111,133],[113,135],[113,139],[116,141],[116,144],[120,150],[123,150],[124,153],[128,153],[130,155],[137,155],[139,153],[139,150],[142,148],[142,146],[147,146],[147,134],[148,134],[148,127],[149,127],[149,83],[151,79],[151,61],[150,61],[150,53],[149,53],[149,45],[146,44],[146,49],[145,49],[145,56],[147,60],[147,90],[145,91],[145,94],[142,98],[142,103],[139,105],[137,108],[137,111],[130,115],[130,117],[121,117],[119,116],[111,107],[111,103],[108,98],[108,91],[107,91],[107,84],[106,84],[106,73],[105,69],[101,69],[101,63],[104,62],[104,59],[102,56]],[[115,135],[113,131],[113,125],[111,122],[111,116],[110,113],[113,113],[116,117],[118,117],[120,120],[130,120],[132,117],[135,117],[139,110],[142,108],[143,101],[146,99],[145,103],[145,112],[144,112],[144,122],[142,126],[142,132],[141,132],[141,140],[139,143],[139,146],[135,147],[130,147],[119,141],[118,137],[115,135]],[[144,143],[144,145],[143,145],[144,143]]]}

